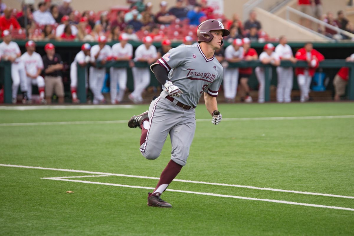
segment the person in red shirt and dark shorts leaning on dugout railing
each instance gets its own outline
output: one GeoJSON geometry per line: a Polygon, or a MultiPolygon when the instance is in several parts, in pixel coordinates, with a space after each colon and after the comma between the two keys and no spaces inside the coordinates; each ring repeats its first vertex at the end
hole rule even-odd
{"type": "MultiPolygon", "coordinates": [[[[242,39],[244,56],[243,59],[247,62],[255,61],[258,59],[258,54],[255,49],[251,48],[251,40],[249,38],[242,39]]],[[[250,96],[250,87],[248,86],[248,79],[252,75],[252,68],[240,68],[239,69],[239,81],[240,89],[239,94],[242,102],[250,103],[252,102],[252,97],[250,96]]]]}

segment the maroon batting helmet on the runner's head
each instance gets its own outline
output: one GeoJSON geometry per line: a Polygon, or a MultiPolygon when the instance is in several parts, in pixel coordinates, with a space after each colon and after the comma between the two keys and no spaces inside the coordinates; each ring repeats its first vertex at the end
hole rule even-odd
{"type": "Polygon", "coordinates": [[[197,29],[198,42],[210,42],[213,39],[213,35],[210,33],[212,30],[222,30],[222,36],[225,37],[230,34],[230,31],[224,28],[224,25],[215,19],[210,19],[202,22],[197,29]],[[209,38],[204,37],[209,35],[209,38]]]}

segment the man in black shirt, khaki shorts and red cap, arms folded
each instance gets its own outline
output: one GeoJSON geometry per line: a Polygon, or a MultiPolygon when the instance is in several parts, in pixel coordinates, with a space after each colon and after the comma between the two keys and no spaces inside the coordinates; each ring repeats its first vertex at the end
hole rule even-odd
{"type": "Polygon", "coordinates": [[[58,96],[58,103],[64,103],[64,85],[62,81],[63,61],[58,53],[55,53],[53,44],[48,43],[44,46],[47,53],[43,56],[45,97],[48,104],[52,102],[53,91],[58,96]]]}

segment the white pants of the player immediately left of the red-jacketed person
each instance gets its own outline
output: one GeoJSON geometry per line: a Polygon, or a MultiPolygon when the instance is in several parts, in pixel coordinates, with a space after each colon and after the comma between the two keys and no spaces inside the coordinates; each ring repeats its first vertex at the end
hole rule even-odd
{"type": "Polygon", "coordinates": [[[291,102],[293,84],[293,69],[291,67],[277,67],[278,85],[276,87],[277,102],[291,102]]]}

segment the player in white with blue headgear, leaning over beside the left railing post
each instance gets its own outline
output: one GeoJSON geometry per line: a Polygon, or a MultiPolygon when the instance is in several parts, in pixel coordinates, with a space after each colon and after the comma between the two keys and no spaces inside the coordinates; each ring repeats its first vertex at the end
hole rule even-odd
{"type": "MultiPolygon", "coordinates": [[[[78,63],[82,67],[86,67],[90,63],[90,44],[83,44],[81,46],[81,51],[76,54],[74,61],[70,65],[70,91],[73,98],[73,103],[80,103],[78,99],[78,63]]],[[[85,87],[87,88],[87,68],[85,68],[85,87]]]]}

